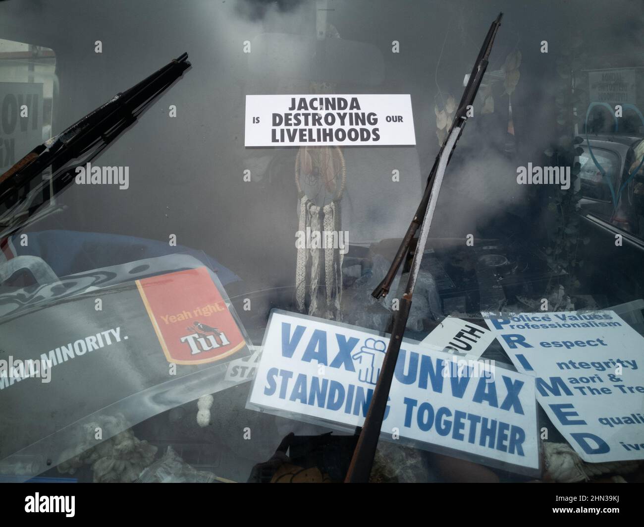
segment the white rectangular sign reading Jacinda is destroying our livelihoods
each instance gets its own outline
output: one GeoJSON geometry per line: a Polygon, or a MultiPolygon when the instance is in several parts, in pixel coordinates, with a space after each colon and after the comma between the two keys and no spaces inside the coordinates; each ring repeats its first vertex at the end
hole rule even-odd
{"type": "Polygon", "coordinates": [[[247,95],[245,146],[414,145],[409,95],[247,95]]]}

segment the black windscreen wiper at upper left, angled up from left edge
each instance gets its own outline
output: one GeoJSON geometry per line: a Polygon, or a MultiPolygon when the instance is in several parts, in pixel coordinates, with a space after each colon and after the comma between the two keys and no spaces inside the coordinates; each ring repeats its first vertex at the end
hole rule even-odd
{"type": "MultiPolygon", "coordinates": [[[[21,196],[21,190],[24,191],[24,187],[44,170],[51,168],[52,174],[55,174],[71,160],[91,149],[100,150],[116,139],[137,120],[138,115],[157,95],[169,88],[191,66],[187,58],[188,54],[184,53],[129,90],[118,93],[52,139],[39,144],[0,175],[0,204],[3,204],[5,210],[10,209],[24,197],[24,192],[21,196]]],[[[64,171],[64,175],[68,175],[68,171],[64,171]]],[[[52,175],[53,177],[55,176],[52,175]]],[[[58,188],[52,189],[52,193],[73,181],[70,177],[62,179],[58,182],[58,188]]]]}

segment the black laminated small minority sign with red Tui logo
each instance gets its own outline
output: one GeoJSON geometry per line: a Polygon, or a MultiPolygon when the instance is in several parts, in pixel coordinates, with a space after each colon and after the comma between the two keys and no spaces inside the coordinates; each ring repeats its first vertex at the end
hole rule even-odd
{"type": "Polygon", "coordinates": [[[0,461],[28,459],[35,474],[65,461],[84,425],[122,414],[132,426],[236,385],[228,362],[249,355],[205,267],[39,305],[0,319],[0,334],[0,461]]]}

